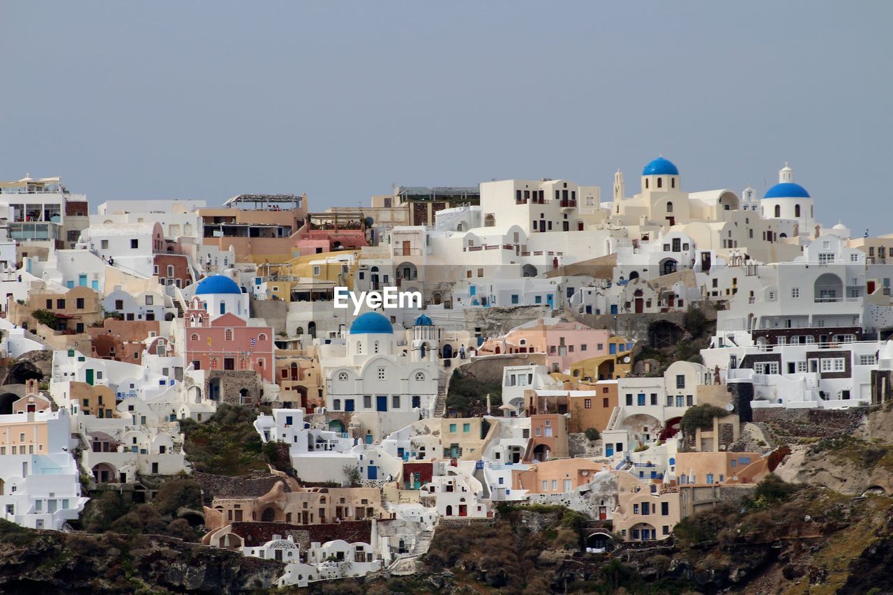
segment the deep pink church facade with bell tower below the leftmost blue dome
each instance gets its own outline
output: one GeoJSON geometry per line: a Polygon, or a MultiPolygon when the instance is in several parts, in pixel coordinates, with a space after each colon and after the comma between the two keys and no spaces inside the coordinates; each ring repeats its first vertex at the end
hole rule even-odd
{"type": "Polygon", "coordinates": [[[264,381],[273,381],[273,330],[269,326],[248,326],[236,314],[214,317],[196,307],[187,311],[186,361],[196,370],[254,370],[264,381]]]}

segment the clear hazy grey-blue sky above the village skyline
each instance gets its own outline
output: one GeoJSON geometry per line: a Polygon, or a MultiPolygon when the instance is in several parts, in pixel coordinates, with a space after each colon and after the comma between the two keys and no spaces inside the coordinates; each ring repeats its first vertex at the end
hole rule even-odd
{"type": "Polygon", "coordinates": [[[567,178],[657,154],[893,231],[893,2],[9,2],[0,180],[122,198],[567,178]]]}

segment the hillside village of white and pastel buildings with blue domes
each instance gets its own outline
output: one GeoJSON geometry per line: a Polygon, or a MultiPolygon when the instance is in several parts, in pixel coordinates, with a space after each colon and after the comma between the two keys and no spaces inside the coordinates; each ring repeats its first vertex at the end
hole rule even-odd
{"type": "Polygon", "coordinates": [[[893,235],[826,225],[787,163],[764,192],[684,188],[663,156],[605,196],[494,180],[324,209],[0,182],[3,519],[347,590],[534,517],[574,572],[658,580],[659,552],[694,568],[726,528],[699,519],[889,494],[893,235]],[[336,307],[388,288],[421,307],[336,307]]]}

